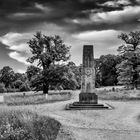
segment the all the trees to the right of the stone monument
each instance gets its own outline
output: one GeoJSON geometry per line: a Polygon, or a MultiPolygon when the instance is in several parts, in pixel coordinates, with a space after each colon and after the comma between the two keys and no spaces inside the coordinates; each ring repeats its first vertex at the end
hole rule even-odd
{"type": "Polygon", "coordinates": [[[138,89],[140,85],[140,31],[118,36],[124,44],[118,55],[105,55],[96,60],[96,85],[125,85],[138,89]]]}

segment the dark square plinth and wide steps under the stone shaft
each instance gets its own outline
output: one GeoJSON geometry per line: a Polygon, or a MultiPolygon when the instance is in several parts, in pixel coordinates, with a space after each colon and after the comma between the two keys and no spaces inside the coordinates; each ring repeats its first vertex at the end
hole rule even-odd
{"type": "Polygon", "coordinates": [[[66,110],[92,110],[109,109],[108,106],[98,104],[98,96],[95,93],[80,93],[79,102],[66,105],[66,110]]]}

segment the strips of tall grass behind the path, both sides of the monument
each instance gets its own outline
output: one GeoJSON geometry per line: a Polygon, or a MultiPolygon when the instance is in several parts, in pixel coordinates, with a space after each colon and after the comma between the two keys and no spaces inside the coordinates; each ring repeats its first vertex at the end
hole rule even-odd
{"type": "MultiPolygon", "coordinates": [[[[29,105],[29,104],[44,104],[58,101],[70,100],[75,91],[49,91],[46,95],[42,92],[17,92],[4,94],[5,103],[7,105],[29,105]]],[[[96,94],[102,100],[140,100],[140,90],[124,90],[122,87],[97,88],[96,94]]]]}

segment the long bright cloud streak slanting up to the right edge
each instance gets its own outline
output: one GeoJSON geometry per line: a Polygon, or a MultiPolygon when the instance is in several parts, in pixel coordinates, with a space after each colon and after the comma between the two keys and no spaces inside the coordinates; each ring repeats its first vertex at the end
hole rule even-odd
{"type": "Polygon", "coordinates": [[[77,26],[77,31],[86,30],[122,30],[139,29],[140,6],[126,6],[115,11],[87,11],[88,18],[67,19],[77,26]]]}

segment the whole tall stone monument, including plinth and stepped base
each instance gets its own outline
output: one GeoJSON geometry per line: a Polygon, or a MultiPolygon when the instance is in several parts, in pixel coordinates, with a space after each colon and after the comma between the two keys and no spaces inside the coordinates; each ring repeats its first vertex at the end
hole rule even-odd
{"type": "Polygon", "coordinates": [[[79,102],[66,105],[66,109],[108,109],[108,106],[98,104],[98,96],[95,93],[95,64],[93,51],[93,45],[83,46],[83,66],[79,102]]]}

